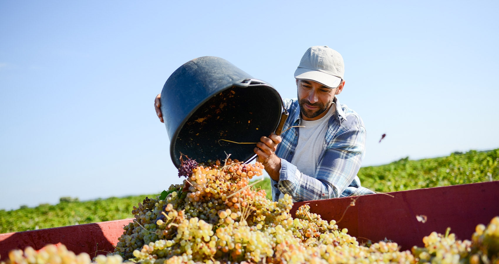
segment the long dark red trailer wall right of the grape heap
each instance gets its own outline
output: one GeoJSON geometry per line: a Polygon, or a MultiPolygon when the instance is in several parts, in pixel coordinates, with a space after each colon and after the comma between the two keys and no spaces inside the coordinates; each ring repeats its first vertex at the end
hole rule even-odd
{"type": "Polygon", "coordinates": [[[423,246],[423,237],[433,231],[445,234],[448,227],[458,239],[471,240],[478,224],[499,216],[499,181],[300,202],[292,212],[303,204],[322,219],[339,221],[338,227],[359,241],[387,238],[408,250],[423,246]]]}

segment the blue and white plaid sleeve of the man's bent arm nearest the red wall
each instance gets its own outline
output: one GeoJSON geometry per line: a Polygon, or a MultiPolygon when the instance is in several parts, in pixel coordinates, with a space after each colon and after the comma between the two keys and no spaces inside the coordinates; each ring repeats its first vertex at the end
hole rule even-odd
{"type": "Polygon", "coordinates": [[[357,175],[364,156],[366,131],[363,126],[338,131],[318,164],[315,177],[300,173],[281,159],[278,188],[296,201],[337,198],[357,175]]]}

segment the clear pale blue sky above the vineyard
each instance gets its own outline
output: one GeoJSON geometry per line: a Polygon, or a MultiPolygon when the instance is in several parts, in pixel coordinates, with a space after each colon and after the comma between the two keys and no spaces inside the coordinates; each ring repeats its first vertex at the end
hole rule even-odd
{"type": "Polygon", "coordinates": [[[0,209],[180,183],[153,100],[200,56],[282,97],[309,46],[345,61],[364,166],[499,147],[498,1],[0,1],[0,209]],[[381,135],[386,138],[378,143],[381,135]]]}

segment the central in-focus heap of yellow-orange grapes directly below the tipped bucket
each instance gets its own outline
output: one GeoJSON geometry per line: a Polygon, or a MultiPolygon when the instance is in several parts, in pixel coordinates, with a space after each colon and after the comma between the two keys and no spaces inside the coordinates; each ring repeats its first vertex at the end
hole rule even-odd
{"type": "Polygon", "coordinates": [[[237,160],[199,164],[165,200],[145,199],[124,228],[115,253],[159,263],[414,263],[396,243],[359,245],[304,205],[293,218],[289,195],[278,202],[250,188],[263,165],[237,160]],[[153,206],[154,204],[154,206],[153,206]]]}

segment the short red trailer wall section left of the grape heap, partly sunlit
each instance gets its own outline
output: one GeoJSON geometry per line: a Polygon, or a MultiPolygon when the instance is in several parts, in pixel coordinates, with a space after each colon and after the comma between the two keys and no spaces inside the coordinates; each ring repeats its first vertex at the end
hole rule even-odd
{"type": "Polygon", "coordinates": [[[75,254],[85,252],[91,257],[114,252],[114,246],[123,234],[123,227],[132,221],[133,219],[123,219],[0,234],[0,260],[7,259],[11,250],[23,250],[28,246],[39,250],[47,244],[64,244],[75,254]]]}

